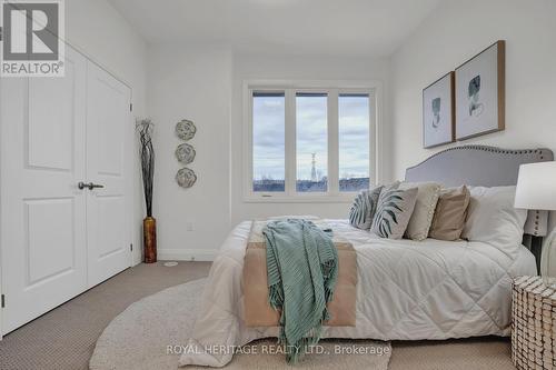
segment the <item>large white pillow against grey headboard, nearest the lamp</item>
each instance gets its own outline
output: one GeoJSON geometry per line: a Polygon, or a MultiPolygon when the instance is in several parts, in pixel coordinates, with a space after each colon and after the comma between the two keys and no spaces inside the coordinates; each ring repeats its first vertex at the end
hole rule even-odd
{"type": "Polygon", "coordinates": [[[461,238],[510,252],[522,244],[527,210],[514,208],[516,187],[471,187],[461,238]]]}

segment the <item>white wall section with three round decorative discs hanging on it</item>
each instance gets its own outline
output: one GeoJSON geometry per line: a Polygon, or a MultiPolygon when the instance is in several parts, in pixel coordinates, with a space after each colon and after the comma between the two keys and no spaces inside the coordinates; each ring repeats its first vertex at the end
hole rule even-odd
{"type": "Polygon", "coordinates": [[[156,124],[159,259],[211,259],[230,231],[231,52],[218,46],[151,46],[147,68],[147,107],[156,124]],[[175,157],[181,143],[175,127],[181,119],[197,126],[189,141],[197,157],[188,167],[198,180],[190,189],[175,181],[183,167],[175,157]]]}

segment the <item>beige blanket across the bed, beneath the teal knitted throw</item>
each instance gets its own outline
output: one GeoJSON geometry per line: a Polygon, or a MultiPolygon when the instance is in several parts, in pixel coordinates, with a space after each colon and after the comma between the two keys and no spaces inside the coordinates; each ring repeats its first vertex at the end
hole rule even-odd
{"type": "MultiPolygon", "coordinates": [[[[311,220],[318,227],[327,226],[320,220],[311,220]]],[[[242,289],[245,298],[245,320],[248,327],[276,327],[280,312],[268,304],[267,251],[262,229],[267,221],[254,221],[244,262],[242,289]]],[[[334,231],[334,230],[332,230],[334,231]]],[[[355,327],[357,257],[347,240],[332,236],[338,250],[338,282],[334,299],[328,303],[329,327],[355,327]]]]}

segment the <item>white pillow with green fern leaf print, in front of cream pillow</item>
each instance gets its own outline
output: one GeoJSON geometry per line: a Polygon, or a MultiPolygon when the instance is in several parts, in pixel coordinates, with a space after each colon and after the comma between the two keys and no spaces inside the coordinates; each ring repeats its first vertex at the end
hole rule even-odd
{"type": "Polygon", "coordinates": [[[377,211],[370,231],[380,238],[401,239],[417,200],[417,188],[385,187],[378,198],[377,211]]]}

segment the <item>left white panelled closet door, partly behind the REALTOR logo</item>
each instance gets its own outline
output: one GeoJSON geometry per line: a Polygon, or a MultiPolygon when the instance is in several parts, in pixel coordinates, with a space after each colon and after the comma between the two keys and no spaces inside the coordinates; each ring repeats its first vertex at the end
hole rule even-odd
{"type": "Polygon", "coordinates": [[[87,63],[66,54],[64,78],[1,82],[3,333],[87,288],[87,63]]]}

